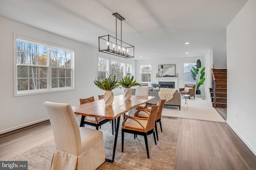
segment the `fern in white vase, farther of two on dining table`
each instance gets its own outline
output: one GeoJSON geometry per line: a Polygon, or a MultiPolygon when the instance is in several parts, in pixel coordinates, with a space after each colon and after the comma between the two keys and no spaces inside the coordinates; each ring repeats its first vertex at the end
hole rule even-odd
{"type": "Polygon", "coordinates": [[[120,86],[124,88],[124,98],[126,99],[131,99],[132,97],[131,87],[140,85],[139,83],[136,82],[136,80],[133,81],[133,79],[134,79],[134,76],[132,76],[132,78],[130,78],[130,76],[125,76],[124,78],[122,78],[120,82],[118,82],[120,86]]]}

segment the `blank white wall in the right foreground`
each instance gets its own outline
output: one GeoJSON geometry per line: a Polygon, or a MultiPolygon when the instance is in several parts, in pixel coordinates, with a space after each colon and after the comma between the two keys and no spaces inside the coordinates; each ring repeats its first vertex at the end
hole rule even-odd
{"type": "Polygon", "coordinates": [[[256,0],[248,0],[227,27],[227,123],[256,155],[256,0]],[[229,83],[230,80],[230,83],[229,83]]]}

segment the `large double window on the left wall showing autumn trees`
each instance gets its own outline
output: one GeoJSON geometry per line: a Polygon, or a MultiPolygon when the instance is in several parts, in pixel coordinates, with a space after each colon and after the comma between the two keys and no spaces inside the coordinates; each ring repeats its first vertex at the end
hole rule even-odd
{"type": "Polygon", "coordinates": [[[15,96],[73,88],[73,51],[16,39],[15,96]]]}

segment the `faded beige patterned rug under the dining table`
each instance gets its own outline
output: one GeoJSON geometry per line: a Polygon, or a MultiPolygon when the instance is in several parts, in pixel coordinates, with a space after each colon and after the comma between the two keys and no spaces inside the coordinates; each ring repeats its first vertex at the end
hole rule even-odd
{"type": "MultiPolygon", "coordinates": [[[[121,122],[122,117],[120,124],[121,122]]],[[[150,159],[147,158],[143,136],[134,139],[134,135],[125,133],[124,152],[121,152],[121,129],[119,128],[114,163],[104,162],[98,170],[173,170],[180,124],[181,120],[163,118],[163,132],[161,132],[158,123],[157,145],[154,144],[153,134],[148,135],[150,159]]],[[[111,123],[102,125],[100,130],[104,135],[107,158],[112,159],[114,135],[112,135],[111,123]]],[[[29,170],[49,170],[53,152],[54,139],[9,160],[28,160],[29,170]]]]}

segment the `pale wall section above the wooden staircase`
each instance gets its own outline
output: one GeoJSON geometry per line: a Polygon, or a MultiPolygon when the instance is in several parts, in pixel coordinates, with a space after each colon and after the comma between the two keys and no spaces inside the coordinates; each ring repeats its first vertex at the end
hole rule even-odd
{"type": "Polygon", "coordinates": [[[227,47],[213,49],[213,63],[215,68],[227,68],[227,47]]]}

